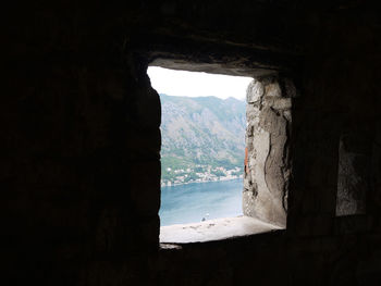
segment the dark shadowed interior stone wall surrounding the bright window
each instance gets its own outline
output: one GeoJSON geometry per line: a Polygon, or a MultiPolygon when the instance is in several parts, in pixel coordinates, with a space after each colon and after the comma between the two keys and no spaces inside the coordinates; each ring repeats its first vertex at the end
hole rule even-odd
{"type": "Polygon", "coordinates": [[[300,2],[7,7],[2,283],[377,285],[379,13],[300,2]],[[158,58],[293,79],[286,231],[159,249],[160,102],[146,74],[158,58]],[[348,132],[370,158],[366,213],[336,217],[348,132]]]}

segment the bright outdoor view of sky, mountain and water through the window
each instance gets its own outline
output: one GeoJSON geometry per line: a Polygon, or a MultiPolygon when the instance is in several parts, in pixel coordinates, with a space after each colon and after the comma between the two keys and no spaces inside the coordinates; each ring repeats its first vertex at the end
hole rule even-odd
{"type": "Polygon", "coordinates": [[[149,67],[162,108],[161,226],[243,214],[250,77],[149,67]]]}

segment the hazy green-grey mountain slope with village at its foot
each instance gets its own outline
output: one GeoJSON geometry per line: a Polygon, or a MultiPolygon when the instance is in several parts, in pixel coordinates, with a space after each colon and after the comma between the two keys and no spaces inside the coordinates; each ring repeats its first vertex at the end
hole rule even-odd
{"type": "Polygon", "coordinates": [[[173,182],[175,177],[185,177],[185,182],[193,182],[202,177],[195,175],[197,173],[204,177],[209,174],[210,178],[213,174],[222,175],[222,172],[226,175],[229,170],[237,171],[236,167],[243,166],[244,101],[163,94],[160,94],[160,100],[162,179],[173,182]]]}

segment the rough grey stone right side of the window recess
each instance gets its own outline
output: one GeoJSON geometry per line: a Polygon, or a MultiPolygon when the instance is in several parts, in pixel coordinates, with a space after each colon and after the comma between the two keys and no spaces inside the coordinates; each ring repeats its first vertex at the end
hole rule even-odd
{"type": "Polygon", "coordinates": [[[286,224],[291,164],[288,136],[294,88],[278,77],[254,79],[247,87],[247,166],[244,214],[281,226],[286,224]],[[287,92],[288,89],[288,92],[287,92]]]}

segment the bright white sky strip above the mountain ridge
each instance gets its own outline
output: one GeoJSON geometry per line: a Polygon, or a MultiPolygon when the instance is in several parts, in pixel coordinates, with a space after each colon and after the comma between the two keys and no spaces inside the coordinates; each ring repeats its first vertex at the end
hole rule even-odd
{"type": "Polygon", "coordinates": [[[148,75],[159,94],[177,97],[246,98],[251,77],[229,76],[149,66],[148,75]]]}

